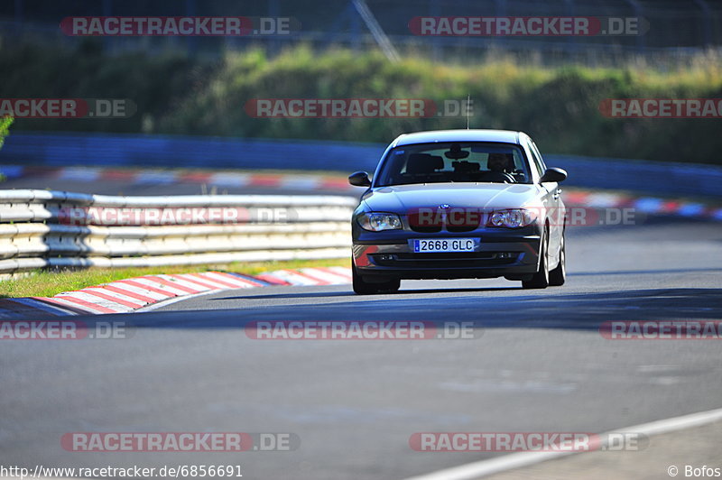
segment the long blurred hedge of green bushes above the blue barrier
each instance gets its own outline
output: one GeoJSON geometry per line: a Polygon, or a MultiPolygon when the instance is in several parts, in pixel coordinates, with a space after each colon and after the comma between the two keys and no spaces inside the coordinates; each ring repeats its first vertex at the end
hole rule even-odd
{"type": "Polygon", "coordinates": [[[25,42],[0,47],[1,97],[123,97],[138,113],[125,120],[17,119],[18,130],[202,134],[386,143],[411,131],[461,128],[463,117],[254,118],[252,98],[413,97],[438,103],[473,100],[471,126],[523,130],[545,152],[722,163],[717,119],[611,119],[605,98],[722,97],[716,54],[689,68],[544,67],[499,57],[438,63],[405,56],[391,63],[377,51],[295,46],[270,56],[262,48],[221,58],[143,51],[113,57],[97,41],[76,48],[25,42]]]}

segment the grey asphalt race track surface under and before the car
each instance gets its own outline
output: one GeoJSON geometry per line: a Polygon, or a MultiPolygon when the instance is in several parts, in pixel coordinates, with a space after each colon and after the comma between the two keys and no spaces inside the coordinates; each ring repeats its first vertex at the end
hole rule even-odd
{"type": "MultiPolygon", "coordinates": [[[[240,465],[244,478],[404,478],[501,453],[430,453],[421,431],[602,432],[722,404],[719,344],[608,340],[605,320],[720,319],[722,228],[569,231],[567,285],[403,282],[225,291],[103,316],[126,339],[5,341],[3,465],[240,465]],[[473,321],[475,339],[255,340],[254,320],[473,321]],[[88,453],[74,431],[291,432],[294,451],[88,453]]],[[[99,317],[96,317],[99,318],[99,317]]],[[[88,322],[97,321],[85,318],[88,322]]],[[[662,472],[663,473],[663,472],[662,472]]]]}

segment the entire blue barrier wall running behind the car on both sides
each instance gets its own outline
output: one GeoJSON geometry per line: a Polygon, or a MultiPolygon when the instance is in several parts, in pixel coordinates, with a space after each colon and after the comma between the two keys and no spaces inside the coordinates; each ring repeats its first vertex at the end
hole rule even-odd
{"type": "MultiPolygon", "coordinates": [[[[374,171],[380,143],[304,142],[134,134],[14,132],[0,163],[47,166],[199,167],[374,171]]],[[[669,195],[722,196],[722,168],[570,155],[544,156],[569,172],[565,184],[669,195]]]]}

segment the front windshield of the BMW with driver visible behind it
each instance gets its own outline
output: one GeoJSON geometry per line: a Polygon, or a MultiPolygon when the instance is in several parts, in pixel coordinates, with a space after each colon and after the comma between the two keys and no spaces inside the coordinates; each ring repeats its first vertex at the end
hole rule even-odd
{"type": "Polygon", "coordinates": [[[513,143],[420,143],[386,155],[375,186],[411,183],[530,183],[529,167],[513,143]]]}

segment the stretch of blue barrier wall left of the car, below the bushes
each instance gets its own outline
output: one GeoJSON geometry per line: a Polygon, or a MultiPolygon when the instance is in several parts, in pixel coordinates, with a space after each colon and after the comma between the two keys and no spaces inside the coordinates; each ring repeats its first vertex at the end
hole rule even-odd
{"type": "Polygon", "coordinates": [[[48,166],[199,167],[346,171],[372,168],[374,143],[239,140],[133,134],[12,133],[0,162],[48,166]]]}

